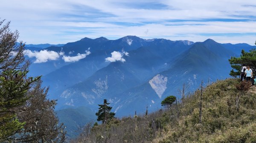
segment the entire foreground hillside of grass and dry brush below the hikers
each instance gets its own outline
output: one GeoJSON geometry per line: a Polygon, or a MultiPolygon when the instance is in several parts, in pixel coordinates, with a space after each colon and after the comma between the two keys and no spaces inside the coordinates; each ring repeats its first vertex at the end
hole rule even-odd
{"type": "Polygon", "coordinates": [[[256,143],[256,88],[244,93],[236,109],[236,79],[217,81],[203,90],[202,123],[200,91],[183,103],[147,116],[113,119],[94,126],[72,142],[81,143],[256,143]]]}

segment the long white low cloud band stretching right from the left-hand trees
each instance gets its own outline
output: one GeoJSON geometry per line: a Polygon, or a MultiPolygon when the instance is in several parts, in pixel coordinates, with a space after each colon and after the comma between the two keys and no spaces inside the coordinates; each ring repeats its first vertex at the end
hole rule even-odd
{"type": "Polygon", "coordinates": [[[41,50],[41,51],[31,51],[31,50],[24,50],[24,55],[28,56],[29,58],[35,57],[34,63],[43,63],[47,61],[54,61],[59,59],[62,56],[62,59],[65,62],[76,62],[80,59],[85,58],[90,54],[90,48],[85,51],[85,53],[80,54],[78,53],[77,56],[65,56],[64,52],[55,52],[52,50],[41,50]]]}

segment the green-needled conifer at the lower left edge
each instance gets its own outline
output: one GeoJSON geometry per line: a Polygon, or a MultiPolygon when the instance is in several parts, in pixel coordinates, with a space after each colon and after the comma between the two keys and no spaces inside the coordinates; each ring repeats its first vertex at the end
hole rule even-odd
{"type": "Polygon", "coordinates": [[[26,79],[27,72],[5,71],[0,77],[0,141],[10,140],[10,136],[23,128],[25,122],[17,119],[15,108],[26,103],[30,97],[26,92],[30,84],[38,78],[26,79]]]}

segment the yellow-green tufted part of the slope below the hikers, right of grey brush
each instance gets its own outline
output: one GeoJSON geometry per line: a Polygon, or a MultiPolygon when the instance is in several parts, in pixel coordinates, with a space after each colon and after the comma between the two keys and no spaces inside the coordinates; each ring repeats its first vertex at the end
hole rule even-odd
{"type": "Polygon", "coordinates": [[[152,143],[255,143],[256,88],[240,98],[236,110],[238,81],[227,79],[209,85],[203,92],[202,124],[199,123],[199,94],[186,98],[180,118],[168,124],[168,131],[152,143]]]}

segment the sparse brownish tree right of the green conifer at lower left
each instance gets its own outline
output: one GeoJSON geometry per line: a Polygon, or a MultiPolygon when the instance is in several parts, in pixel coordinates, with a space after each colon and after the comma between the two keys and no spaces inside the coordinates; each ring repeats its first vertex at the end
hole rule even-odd
{"type": "Polygon", "coordinates": [[[17,109],[17,117],[26,124],[15,140],[26,143],[63,143],[66,132],[63,123],[58,124],[54,112],[56,101],[47,99],[49,88],[42,88],[41,83],[39,80],[32,85],[27,92],[27,96],[31,98],[17,109]]]}

